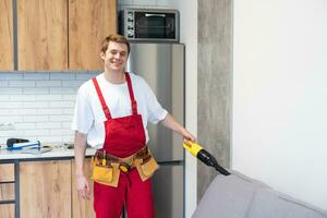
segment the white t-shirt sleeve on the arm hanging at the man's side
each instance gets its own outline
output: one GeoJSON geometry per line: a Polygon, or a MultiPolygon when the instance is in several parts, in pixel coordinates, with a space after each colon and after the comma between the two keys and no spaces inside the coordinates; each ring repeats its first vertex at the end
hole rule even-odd
{"type": "Polygon", "coordinates": [[[94,125],[94,114],[86,92],[81,87],[77,92],[72,130],[87,134],[94,125]]]}

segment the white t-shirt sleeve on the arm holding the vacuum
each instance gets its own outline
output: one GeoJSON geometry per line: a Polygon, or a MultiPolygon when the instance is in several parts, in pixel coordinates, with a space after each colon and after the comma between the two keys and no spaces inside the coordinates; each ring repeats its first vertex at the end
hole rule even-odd
{"type": "Polygon", "coordinates": [[[168,111],[158,102],[149,85],[144,80],[143,82],[147,102],[147,120],[152,123],[157,123],[166,118],[168,111]]]}

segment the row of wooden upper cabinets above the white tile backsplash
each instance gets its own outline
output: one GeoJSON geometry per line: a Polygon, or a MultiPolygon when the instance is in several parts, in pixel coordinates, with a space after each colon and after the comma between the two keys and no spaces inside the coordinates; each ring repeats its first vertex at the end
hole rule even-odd
{"type": "Polygon", "coordinates": [[[117,32],[117,0],[0,0],[0,70],[104,68],[100,43],[117,32]]]}

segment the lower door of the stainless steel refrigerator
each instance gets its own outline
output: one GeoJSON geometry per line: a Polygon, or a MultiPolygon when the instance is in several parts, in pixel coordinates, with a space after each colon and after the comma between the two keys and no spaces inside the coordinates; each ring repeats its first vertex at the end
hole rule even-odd
{"type": "Polygon", "coordinates": [[[184,217],[183,166],[160,165],[153,178],[156,218],[184,217]]]}

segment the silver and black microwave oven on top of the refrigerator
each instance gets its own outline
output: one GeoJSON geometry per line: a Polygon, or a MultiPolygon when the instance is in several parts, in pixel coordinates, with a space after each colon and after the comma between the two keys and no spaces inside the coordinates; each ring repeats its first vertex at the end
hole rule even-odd
{"type": "Polygon", "coordinates": [[[179,41],[179,12],[165,9],[124,9],[119,33],[129,40],[179,41]]]}

